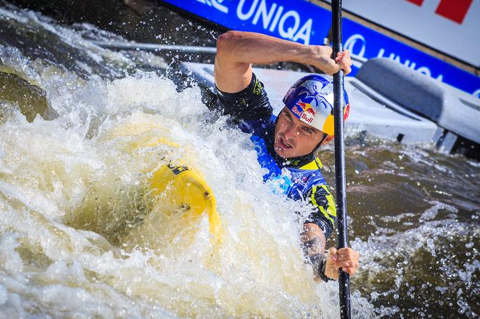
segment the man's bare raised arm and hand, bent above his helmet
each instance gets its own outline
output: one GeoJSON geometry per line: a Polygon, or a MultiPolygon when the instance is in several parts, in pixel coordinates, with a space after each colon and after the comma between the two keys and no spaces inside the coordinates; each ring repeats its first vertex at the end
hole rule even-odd
{"type": "Polygon", "coordinates": [[[215,57],[215,84],[220,91],[237,93],[250,84],[252,63],[297,62],[313,65],[333,74],[345,70],[347,75],[352,65],[347,51],[331,59],[331,47],[324,45],[301,45],[261,33],[228,31],[217,39],[215,57]]]}

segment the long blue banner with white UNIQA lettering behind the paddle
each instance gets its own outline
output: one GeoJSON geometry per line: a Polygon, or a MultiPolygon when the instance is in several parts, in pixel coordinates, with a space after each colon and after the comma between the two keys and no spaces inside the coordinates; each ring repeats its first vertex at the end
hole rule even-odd
{"type": "MultiPolygon", "coordinates": [[[[322,45],[331,26],[331,12],[308,1],[289,0],[162,0],[228,29],[253,31],[322,45]]],[[[362,24],[343,19],[345,49],[363,59],[387,57],[480,98],[480,77],[430,56],[362,24]]],[[[358,67],[353,68],[355,75],[358,67]]]]}

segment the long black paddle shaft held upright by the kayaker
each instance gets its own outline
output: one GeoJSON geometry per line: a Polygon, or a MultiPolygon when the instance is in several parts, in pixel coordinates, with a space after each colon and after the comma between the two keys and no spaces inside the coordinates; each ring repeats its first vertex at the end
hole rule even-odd
{"type": "MultiPolygon", "coordinates": [[[[333,34],[333,57],[343,51],[342,45],[342,0],[331,1],[333,34]]],[[[348,246],[347,240],[347,191],[345,187],[345,148],[343,136],[343,105],[345,97],[343,70],[333,75],[333,107],[335,125],[335,191],[337,200],[338,248],[348,246]]],[[[339,271],[340,318],[350,318],[350,275],[339,271]]]]}

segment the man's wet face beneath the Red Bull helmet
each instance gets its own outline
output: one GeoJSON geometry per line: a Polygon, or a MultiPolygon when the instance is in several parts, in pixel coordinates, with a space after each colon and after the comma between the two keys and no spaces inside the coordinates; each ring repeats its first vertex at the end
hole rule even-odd
{"type": "Polygon", "coordinates": [[[322,141],[323,135],[322,131],[303,123],[285,107],[278,115],[273,147],[283,158],[307,155],[322,141]]]}

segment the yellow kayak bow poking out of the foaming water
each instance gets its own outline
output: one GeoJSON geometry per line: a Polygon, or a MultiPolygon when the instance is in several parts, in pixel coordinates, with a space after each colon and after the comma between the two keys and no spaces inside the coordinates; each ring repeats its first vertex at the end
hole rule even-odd
{"type": "Polygon", "coordinates": [[[125,242],[159,247],[188,245],[194,240],[202,217],[208,216],[213,244],[220,244],[222,228],[216,201],[207,182],[186,166],[163,165],[148,180],[147,197],[153,208],[125,242]]]}

